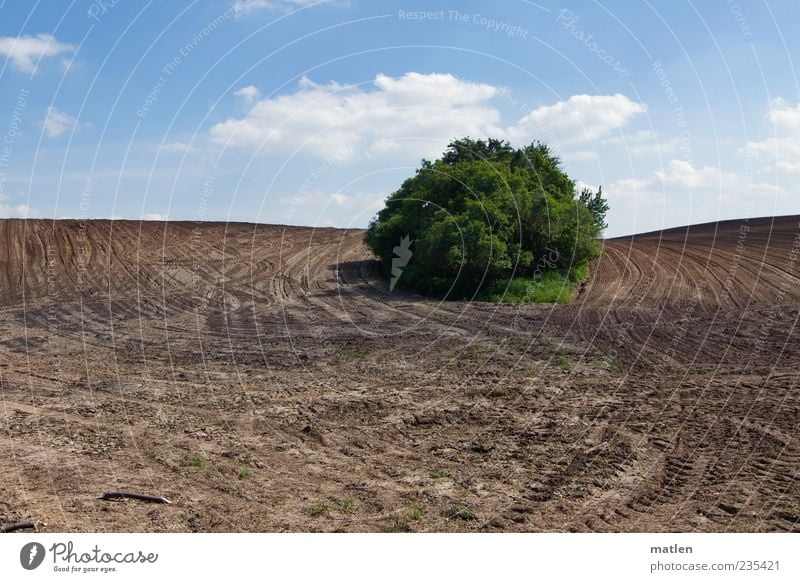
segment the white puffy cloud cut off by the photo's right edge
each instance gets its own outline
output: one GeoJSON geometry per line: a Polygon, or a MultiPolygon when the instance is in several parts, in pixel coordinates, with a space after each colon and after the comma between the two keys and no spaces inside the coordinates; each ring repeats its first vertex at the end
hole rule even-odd
{"type": "Polygon", "coordinates": [[[767,120],[773,126],[774,135],[748,142],[739,150],[739,155],[760,161],[761,172],[777,170],[800,174],[800,103],[792,107],[783,99],[773,100],[767,120]]]}

